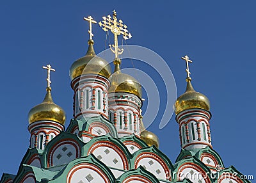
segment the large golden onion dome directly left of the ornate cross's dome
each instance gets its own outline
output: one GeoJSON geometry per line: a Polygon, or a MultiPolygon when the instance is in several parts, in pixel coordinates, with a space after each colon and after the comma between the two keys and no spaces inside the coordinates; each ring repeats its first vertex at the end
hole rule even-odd
{"type": "Polygon", "coordinates": [[[72,64],[69,73],[70,78],[73,80],[82,74],[97,74],[109,78],[111,75],[111,67],[108,61],[96,56],[93,49],[93,40],[89,40],[88,45],[86,55],[72,64]]]}

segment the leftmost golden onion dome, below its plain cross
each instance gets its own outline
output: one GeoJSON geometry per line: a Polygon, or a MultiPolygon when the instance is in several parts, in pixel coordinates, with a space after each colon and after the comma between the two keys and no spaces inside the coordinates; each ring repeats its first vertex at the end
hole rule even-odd
{"type": "Polygon", "coordinates": [[[60,106],[54,104],[51,95],[51,87],[47,87],[46,91],[44,101],[29,111],[29,124],[41,120],[51,120],[64,125],[66,119],[65,111],[60,106]]]}

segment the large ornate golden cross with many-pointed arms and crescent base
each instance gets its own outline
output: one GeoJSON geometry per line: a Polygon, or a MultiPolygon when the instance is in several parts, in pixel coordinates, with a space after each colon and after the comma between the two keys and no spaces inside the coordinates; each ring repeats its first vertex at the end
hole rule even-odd
{"type": "Polygon", "coordinates": [[[115,45],[109,45],[111,51],[115,53],[115,58],[118,58],[119,54],[122,54],[124,49],[118,48],[118,36],[122,35],[125,40],[132,37],[131,33],[128,32],[127,26],[123,24],[122,20],[117,20],[116,18],[116,11],[113,10],[113,19],[110,15],[107,17],[102,17],[103,21],[99,22],[100,27],[104,31],[111,30],[111,33],[114,35],[114,42],[115,45]],[[112,49],[113,47],[114,49],[112,49]]]}

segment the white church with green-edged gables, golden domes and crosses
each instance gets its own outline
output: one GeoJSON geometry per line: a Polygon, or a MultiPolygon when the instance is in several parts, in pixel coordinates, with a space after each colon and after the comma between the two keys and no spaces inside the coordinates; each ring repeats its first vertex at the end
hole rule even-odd
{"type": "MultiPolygon", "coordinates": [[[[159,139],[143,125],[141,84],[121,71],[118,36],[131,34],[116,12],[103,17],[99,26],[114,35],[109,45],[115,70],[93,49],[91,16],[88,51],[70,67],[74,90],[73,116],[65,129],[65,111],[51,95],[51,65],[42,103],[31,108],[29,148],[16,175],[3,173],[0,183],[247,183],[234,166],[225,167],[211,145],[210,102],[193,88],[186,61],[186,92],[175,102],[179,124],[180,154],[175,162],[161,152],[159,139]]],[[[36,68],[35,68],[36,69],[36,68]]],[[[184,81],[185,82],[185,81],[184,81]]],[[[161,139],[160,139],[161,140],[161,139]]],[[[177,139],[178,140],[178,139],[177,139]]]]}

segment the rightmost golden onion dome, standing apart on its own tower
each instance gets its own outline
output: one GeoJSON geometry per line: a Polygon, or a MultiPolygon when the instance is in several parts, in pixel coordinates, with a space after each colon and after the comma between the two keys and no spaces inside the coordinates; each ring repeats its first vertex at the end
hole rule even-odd
{"type": "Polygon", "coordinates": [[[200,108],[207,111],[210,110],[210,101],[202,93],[195,92],[192,84],[191,77],[186,79],[187,88],[186,92],[176,100],[175,102],[175,113],[178,115],[180,112],[186,109],[200,108]]]}

